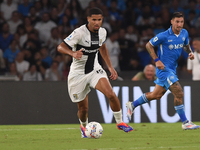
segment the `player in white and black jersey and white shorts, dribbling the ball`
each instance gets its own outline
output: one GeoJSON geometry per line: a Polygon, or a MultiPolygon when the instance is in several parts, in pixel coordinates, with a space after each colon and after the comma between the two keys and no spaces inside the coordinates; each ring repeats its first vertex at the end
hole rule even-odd
{"type": "Polygon", "coordinates": [[[68,76],[68,91],[72,102],[78,105],[82,137],[86,137],[85,127],[88,123],[88,93],[90,87],[101,91],[108,97],[117,128],[130,132],[133,128],[122,121],[119,99],[110,85],[106,72],[98,62],[98,53],[100,52],[111,73],[110,79],[117,79],[117,72],[111,64],[104,43],[106,30],[101,27],[103,12],[99,8],[91,8],[87,21],[88,24],[75,29],[57,48],[60,53],[73,57],[68,76]]]}

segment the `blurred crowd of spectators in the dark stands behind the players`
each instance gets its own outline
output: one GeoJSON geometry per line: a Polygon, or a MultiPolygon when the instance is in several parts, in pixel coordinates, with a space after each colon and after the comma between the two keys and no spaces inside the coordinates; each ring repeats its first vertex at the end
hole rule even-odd
{"type": "MultiPolygon", "coordinates": [[[[104,13],[105,44],[118,73],[154,64],[145,44],[171,26],[173,12],[184,13],[190,42],[200,36],[200,0],[1,0],[0,74],[22,81],[66,80],[72,58],[56,48],[87,23],[92,7],[104,13]]],[[[183,51],[179,70],[187,69],[187,57],[183,51]]]]}

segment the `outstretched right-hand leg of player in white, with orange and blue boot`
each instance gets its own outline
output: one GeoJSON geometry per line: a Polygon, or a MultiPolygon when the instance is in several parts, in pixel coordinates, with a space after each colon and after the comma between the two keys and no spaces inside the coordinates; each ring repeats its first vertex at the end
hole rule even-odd
{"type": "Polygon", "coordinates": [[[118,129],[124,130],[125,132],[132,131],[133,128],[122,121],[121,105],[108,79],[100,78],[98,83],[95,86],[95,89],[101,91],[109,99],[109,104],[113,111],[118,129]]]}

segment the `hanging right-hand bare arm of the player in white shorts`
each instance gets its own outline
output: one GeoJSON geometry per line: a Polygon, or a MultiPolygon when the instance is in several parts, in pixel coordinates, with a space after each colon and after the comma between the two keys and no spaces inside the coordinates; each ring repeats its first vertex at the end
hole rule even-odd
{"type": "Polygon", "coordinates": [[[109,53],[108,53],[108,49],[107,49],[105,43],[99,48],[99,52],[100,52],[102,58],[104,59],[106,65],[108,66],[108,69],[111,73],[110,79],[116,80],[118,75],[117,75],[117,72],[115,71],[115,69],[112,66],[112,63],[111,63],[110,57],[109,57],[109,53]]]}

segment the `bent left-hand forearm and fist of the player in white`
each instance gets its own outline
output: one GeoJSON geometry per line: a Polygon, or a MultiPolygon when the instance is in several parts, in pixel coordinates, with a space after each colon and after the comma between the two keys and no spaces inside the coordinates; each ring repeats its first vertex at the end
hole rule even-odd
{"type": "Polygon", "coordinates": [[[82,53],[83,49],[74,52],[64,42],[58,45],[57,50],[62,54],[70,55],[78,60],[80,60],[83,55],[82,53]]]}

